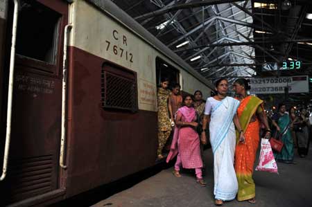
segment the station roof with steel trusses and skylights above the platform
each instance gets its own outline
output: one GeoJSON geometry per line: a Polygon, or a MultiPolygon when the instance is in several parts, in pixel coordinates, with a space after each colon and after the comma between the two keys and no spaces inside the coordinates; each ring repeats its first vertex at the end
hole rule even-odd
{"type": "Polygon", "coordinates": [[[207,80],[312,76],[312,1],[114,0],[207,80]],[[282,62],[302,69],[279,69],[282,62]],[[276,63],[276,69],[263,70],[276,63]],[[286,73],[286,74],[285,74],[286,73]]]}

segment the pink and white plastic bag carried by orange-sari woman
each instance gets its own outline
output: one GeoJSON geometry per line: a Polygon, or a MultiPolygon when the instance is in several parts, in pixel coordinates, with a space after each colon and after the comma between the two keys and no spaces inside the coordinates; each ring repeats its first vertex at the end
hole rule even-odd
{"type": "Polygon", "coordinates": [[[270,141],[266,138],[261,138],[259,164],[257,165],[256,170],[279,173],[277,171],[277,163],[274,159],[270,141]]]}

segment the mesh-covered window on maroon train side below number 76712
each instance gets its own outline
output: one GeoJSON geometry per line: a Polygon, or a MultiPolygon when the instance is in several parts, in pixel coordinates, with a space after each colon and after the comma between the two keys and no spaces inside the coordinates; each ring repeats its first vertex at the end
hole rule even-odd
{"type": "Polygon", "coordinates": [[[101,98],[104,109],[136,112],[137,73],[114,64],[103,64],[101,98]]]}

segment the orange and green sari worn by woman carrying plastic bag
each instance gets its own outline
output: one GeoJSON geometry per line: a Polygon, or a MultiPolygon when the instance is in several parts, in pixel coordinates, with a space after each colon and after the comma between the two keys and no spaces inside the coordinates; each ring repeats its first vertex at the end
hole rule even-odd
{"type": "Polygon", "coordinates": [[[252,173],[254,171],[254,161],[259,145],[260,123],[256,116],[254,122],[250,123],[254,114],[263,111],[263,100],[248,96],[241,100],[241,105],[237,109],[239,122],[245,133],[245,143],[239,143],[239,133],[236,132],[236,150],[235,150],[235,172],[239,183],[239,192],[237,199],[245,201],[256,196],[256,188],[252,173]]]}

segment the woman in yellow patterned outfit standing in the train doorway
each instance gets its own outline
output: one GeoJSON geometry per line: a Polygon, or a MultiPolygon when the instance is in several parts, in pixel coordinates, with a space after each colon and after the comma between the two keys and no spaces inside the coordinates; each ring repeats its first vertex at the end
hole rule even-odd
{"type": "Polygon", "coordinates": [[[171,120],[173,113],[171,108],[171,92],[168,90],[169,80],[163,78],[157,91],[157,107],[158,107],[158,148],[157,159],[164,159],[162,150],[171,134],[171,120]],[[168,114],[169,112],[169,114],[168,114]],[[170,120],[171,119],[171,120],[170,120]]]}

